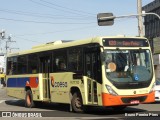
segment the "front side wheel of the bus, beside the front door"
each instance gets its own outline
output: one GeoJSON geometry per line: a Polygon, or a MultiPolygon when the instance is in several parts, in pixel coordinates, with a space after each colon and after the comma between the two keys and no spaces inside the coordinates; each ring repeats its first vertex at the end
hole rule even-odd
{"type": "Polygon", "coordinates": [[[73,112],[82,113],[83,112],[83,102],[80,93],[74,93],[71,100],[71,105],[73,112]]]}

